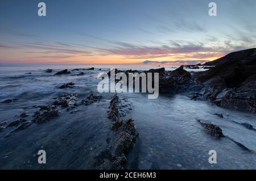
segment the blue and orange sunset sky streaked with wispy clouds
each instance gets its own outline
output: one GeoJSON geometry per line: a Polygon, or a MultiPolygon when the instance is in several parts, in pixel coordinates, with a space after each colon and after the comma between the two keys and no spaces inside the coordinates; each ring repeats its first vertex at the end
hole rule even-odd
{"type": "Polygon", "coordinates": [[[1,0],[0,63],[215,60],[256,47],[255,17],[255,0],[1,0]]]}

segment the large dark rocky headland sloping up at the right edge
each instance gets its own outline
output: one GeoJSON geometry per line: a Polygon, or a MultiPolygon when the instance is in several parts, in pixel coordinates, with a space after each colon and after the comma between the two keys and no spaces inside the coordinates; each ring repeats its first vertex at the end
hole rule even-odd
{"type": "Polygon", "coordinates": [[[196,80],[204,87],[200,98],[218,106],[256,113],[256,48],[228,54],[196,80]]]}

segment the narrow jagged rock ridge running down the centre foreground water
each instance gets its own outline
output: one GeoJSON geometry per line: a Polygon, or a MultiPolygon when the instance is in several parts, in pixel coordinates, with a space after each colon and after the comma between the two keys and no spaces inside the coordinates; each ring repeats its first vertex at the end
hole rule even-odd
{"type": "Polygon", "coordinates": [[[119,120],[122,116],[119,110],[123,110],[122,100],[114,95],[110,100],[109,119],[112,119],[112,131],[115,134],[114,145],[102,151],[94,163],[96,169],[123,169],[123,164],[127,162],[126,154],[133,149],[137,141],[138,131],[133,119],[119,120]],[[122,107],[122,108],[121,108],[122,107]]]}

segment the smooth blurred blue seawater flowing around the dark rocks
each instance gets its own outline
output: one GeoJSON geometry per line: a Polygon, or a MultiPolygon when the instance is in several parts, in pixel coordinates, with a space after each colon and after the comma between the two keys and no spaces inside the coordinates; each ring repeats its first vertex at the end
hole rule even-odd
{"type": "MultiPolygon", "coordinates": [[[[69,69],[90,67],[76,65],[69,69]]],[[[104,66],[94,67],[108,71],[104,66]]],[[[0,104],[0,122],[13,121],[24,111],[31,116],[38,110],[35,106],[46,105],[59,94],[77,94],[81,100],[90,92],[97,92],[98,69],[81,70],[85,75],[77,76],[78,71],[68,75],[45,73],[47,68],[53,66],[18,70],[1,67],[0,102],[16,100],[0,104]],[[74,82],[75,87],[57,89],[67,82],[74,82]]],[[[90,163],[108,146],[105,140],[112,134],[106,113],[112,95],[104,94],[102,102],[79,107],[80,112],[74,115],[61,110],[57,119],[32,125],[8,138],[3,136],[10,129],[0,132],[0,169],[91,169],[90,163]],[[41,146],[48,151],[46,166],[38,165],[34,156],[41,146]]],[[[160,95],[158,99],[147,99],[146,94],[119,96],[131,103],[133,110],[126,117],[135,120],[139,131],[137,144],[128,155],[128,169],[256,169],[256,131],[237,124],[248,123],[256,128],[255,114],[226,110],[185,95],[160,95]],[[252,151],[242,149],[229,138],[210,137],[196,119],[217,124],[225,136],[252,151]],[[217,164],[208,162],[209,150],[217,151],[217,164]]]]}

